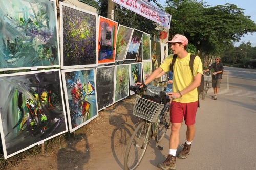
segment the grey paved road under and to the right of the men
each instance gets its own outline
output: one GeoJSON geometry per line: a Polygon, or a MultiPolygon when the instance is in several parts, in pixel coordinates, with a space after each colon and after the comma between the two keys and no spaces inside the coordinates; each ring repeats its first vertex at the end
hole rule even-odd
{"type": "MultiPolygon", "coordinates": [[[[200,100],[196,136],[187,159],[177,158],[177,169],[256,169],[256,70],[225,67],[218,100],[212,89],[200,100]],[[255,154],[255,155],[254,155],[255,154]]],[[[180,146],[185,142],[182,125],[180,146]]],[[[155,149],[151,141],[138,170],[158,169],[168,154],[168,130],[155,149]]]]}

